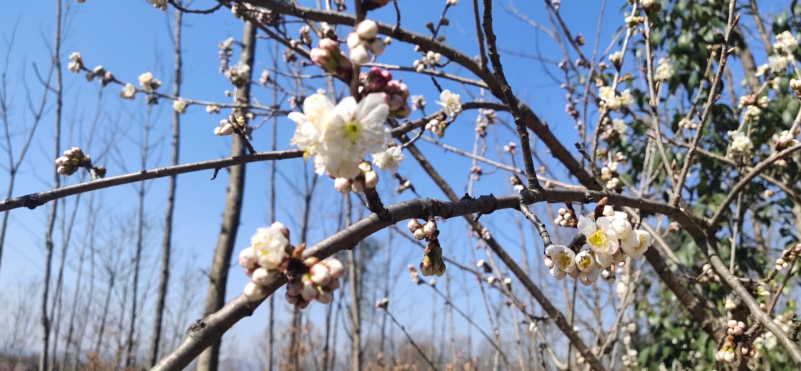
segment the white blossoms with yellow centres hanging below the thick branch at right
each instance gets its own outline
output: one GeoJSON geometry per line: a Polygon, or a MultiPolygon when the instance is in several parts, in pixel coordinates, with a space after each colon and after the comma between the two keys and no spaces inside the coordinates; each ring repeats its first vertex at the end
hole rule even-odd
{"type": "MultiPolygon", "coordinates": [[[[578,252],[565,245],[545,248],[545,266],[557,280],[570,275],[583,285],[591,285],[602,270],[613,263],[623,265],[626,256],[640,257],[650,247],[650,233],[633,229],[626,213],[614,211],[612,206],[606,205],[606,199],[599,203],[598,209],[602,210],[598,217],[595,217],[598,211],[578,217],[576,226],[587,239],[578,252]]],[[[562,221],[566,223],[564,215],[567,213],[569,210],[562,214],[562,221]]],[[[573,217],[571,213],[570,219],[573,217]]],[[[614,270],[605,273],[605,277],[614,277],[614,270]]]]}

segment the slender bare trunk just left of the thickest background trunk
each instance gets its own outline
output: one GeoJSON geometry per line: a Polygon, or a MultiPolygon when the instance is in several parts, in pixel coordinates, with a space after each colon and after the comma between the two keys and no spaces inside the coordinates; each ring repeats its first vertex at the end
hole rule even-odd
{"type": "MultiPolygon", "coordinates": [[[[180,10],[175,10],[175,31],[173,46],[175,48],[175,68],[172,73],[172,95],[180,97],[181,82],[183,80],[183,61],[181,59],[181,18],[180,10]]],[[[172,110],[172,165],[178,165],[179,138],[180,138],[181,114],[172,110]]],[[[155,319],[153,320],[153,339],[148,355],[148,365],[153,367],[159,359],[159,345],[161,342],[161,325],[164,316],[164,301],[167,298],[167,287],[170,281],[170,250],[172,242],[172,212],[175,209],[175,186],[178,176],[170,177],[170,184],[167,186],[167,205],[164,209],[164,236],[161,244],[161,276],[159,277],[159,293],[155,303],[155,319]]]]}

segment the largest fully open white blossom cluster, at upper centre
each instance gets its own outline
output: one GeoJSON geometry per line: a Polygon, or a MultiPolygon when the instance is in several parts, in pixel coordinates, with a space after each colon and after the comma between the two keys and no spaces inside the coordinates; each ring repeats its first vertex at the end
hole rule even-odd
{"type": "Polygon", "coordinates": [[[303,113],[288,118],[297,124],[292,144],[314,157],[317,174],[332,178],[356,178],[364,153],[378,154],[388,149],[390,131],[384,126],[389,106],[381,94],[367,94],[360,102],[344,98],[334,104],[323,94],[312,94],[303,104],[303,113]]]}

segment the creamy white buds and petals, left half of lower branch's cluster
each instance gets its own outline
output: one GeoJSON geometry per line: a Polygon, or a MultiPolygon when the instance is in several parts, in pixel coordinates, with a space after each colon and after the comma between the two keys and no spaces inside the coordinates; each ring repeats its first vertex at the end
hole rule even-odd
{"type": "Polygon", "coordinates": [[[286,225],[275,222],[269,228],[256,229],[251,245],[239,252],[239,265],[251,277],[244,288],[248,299],[257,301],[267,297],[264,286],[287,268],[292,250],[286,225]]]}

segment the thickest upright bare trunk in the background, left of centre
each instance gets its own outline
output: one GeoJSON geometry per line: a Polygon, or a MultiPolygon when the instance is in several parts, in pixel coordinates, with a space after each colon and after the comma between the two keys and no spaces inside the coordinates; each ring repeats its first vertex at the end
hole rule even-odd
{"type": "MultiPolygon", "coordinates": [[[[244,22],[242,37],[242,52],[239,54],[239,62],[248,65],[253,70],[253,50],[256,47],[256,26],[249,21],[244,22]]],[[[252,76],[252,73],[251,73],[252,76]]],[[[243,86],[236,88],[235,99],[239,104],[250,102],[250,81],[243,86]]],[[[245,116],[245,110],[238,108],[235,116],[245,116]]],[[[231,156],[242,156],[245,154],[245,143],[237,135],[233,135],[231,143],[231,156]]],[[[245,166],[231,166],[231,173],[228,178],[228,189],[225,198],[225,209],[223,210],[223,224],[217,239],[217,248],[214,253],[214,260],[211,263],[211,270],[208,275],[208,289],[206,293],[206,309],[203,313],[207,316],[215,313],[223,307],[225,303],[225,285],[228,280],[228,268],[231,265],[231,252],[234,249],[236,231],[239,228],[239,217],[242,211],[242,196],[244,194],[245,166]]],[[[219,362],[219,344],[216,341],[209,349],[203,351],[198,358],[198,371],[216,371],[219,362]]]]}

